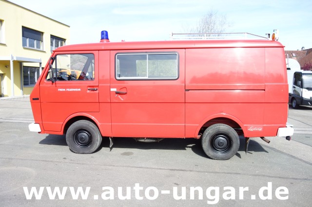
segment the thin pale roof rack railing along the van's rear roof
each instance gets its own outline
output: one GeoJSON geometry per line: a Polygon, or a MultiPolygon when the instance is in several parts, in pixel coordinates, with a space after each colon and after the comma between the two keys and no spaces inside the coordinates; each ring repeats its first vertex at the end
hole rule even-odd
{"type": "Polygon", "coordinates": [[[202,39],[269,39],[251,33],[171,33],[171,40],[202,40],[202,39]]]}

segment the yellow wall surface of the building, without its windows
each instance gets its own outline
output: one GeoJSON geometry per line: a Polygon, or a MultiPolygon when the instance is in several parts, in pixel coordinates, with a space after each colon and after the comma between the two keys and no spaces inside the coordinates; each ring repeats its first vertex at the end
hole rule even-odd
{"type": "MultiPolygon", "coordinates": [[[[42,2],[42,6],[44,2],[42,2]]],[[[37,59],[42,62],[42,67],[51,55],[51,35],[60,37],[69,44],[70,27],[49,17],[28,10],[6,0],[0,0],[1,42],[0,42],[0,74],[3,76],[3,96],[11,94],[11,66],[10,60],[3,57],[23,57],[37,59]],[[23,47],[22,27],[42,33],[42,50],[23,47]]],[[[39,67],[39,63],[27,61],[13,61],[14,70],[14,96],[28,95],[33,86],[23,86],[22,67],[39,67]]]]}

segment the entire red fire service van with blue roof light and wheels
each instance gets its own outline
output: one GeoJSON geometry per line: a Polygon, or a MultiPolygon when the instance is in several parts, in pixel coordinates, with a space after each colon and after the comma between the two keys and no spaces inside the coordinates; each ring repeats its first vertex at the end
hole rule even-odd
{"type": "MultiPolygon", "coordinates": [[[[66,135],[71,151],[102,138],[200,138],[225,160],[245,138],[286,137],[284,46],[269,39],[110,42],[57,48],[34,87],[30,131],[66,135]]],[[[111,147],[111,146],[110,146],[111,147]]]]}

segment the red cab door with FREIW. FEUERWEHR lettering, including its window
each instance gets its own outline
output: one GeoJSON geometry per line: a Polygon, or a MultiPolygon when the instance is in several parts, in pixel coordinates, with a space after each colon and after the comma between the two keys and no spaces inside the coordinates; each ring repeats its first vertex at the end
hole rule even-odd
{"type": "Polygon", "coordinates": [[[99,112],[98,51],[55,53],[40,81],[42,124],[59,132],[70,116],[99,112]]]}

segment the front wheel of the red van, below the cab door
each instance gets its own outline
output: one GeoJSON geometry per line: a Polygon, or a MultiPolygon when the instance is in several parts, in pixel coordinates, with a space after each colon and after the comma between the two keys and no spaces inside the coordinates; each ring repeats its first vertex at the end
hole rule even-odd
{"type": "Polygon", "coordinates": [[[66,142],[71,151],[77,154],[94,153],[102,142],[98,127],[91,121],[74,122],[66,132],[66,142]]]}

